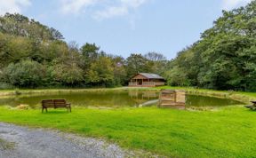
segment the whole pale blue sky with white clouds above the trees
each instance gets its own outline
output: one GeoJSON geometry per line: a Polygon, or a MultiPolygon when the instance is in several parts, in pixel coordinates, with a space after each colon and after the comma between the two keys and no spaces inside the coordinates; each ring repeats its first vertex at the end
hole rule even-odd
{"type": "Polygon", "coordinates": [[[121,55],[156,51],[167,59],[200,39],[222,10],[252,0],[0,0],[0,15],[19,12],[58,29],[68,43],[96,43],[121,55]]]}

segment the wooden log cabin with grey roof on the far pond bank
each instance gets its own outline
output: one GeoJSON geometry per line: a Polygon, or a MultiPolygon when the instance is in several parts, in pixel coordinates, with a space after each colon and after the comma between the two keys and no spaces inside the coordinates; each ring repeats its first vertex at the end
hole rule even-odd
{"type": "Polygon", "coordinates": [[[130,87],[156,87],[165,84],[164,77],[157,74],[139,73],[130,80],[130,87]]]}

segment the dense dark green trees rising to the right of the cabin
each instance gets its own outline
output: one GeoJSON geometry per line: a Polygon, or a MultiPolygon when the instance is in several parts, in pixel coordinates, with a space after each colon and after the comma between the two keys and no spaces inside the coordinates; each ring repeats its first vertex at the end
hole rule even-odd
{"type": "Polygon", "coordinates": [[[172,85],[256,91],[256,1],[214,21],[201,40],[180,51],[165,73],[172,85]],[[182,73],[180,81],[173,75],[182,73]]]}

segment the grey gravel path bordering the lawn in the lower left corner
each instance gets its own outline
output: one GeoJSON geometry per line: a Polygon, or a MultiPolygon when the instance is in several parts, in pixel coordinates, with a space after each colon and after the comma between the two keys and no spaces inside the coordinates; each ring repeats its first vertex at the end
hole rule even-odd
{"type": "Polygon", "coordinates": [[[132,152],[96,138],[0,122],[1,158],[133,157],[132,152]]]}

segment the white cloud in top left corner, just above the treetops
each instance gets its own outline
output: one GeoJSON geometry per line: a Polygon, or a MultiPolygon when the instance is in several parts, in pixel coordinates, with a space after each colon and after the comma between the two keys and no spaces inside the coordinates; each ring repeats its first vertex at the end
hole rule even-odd
{"type": "Polygon", "coordinates": [[[30,5],[30,0],[0,0],[0,15],[6,12],[21,12],[23,7],[30,5]]]}

